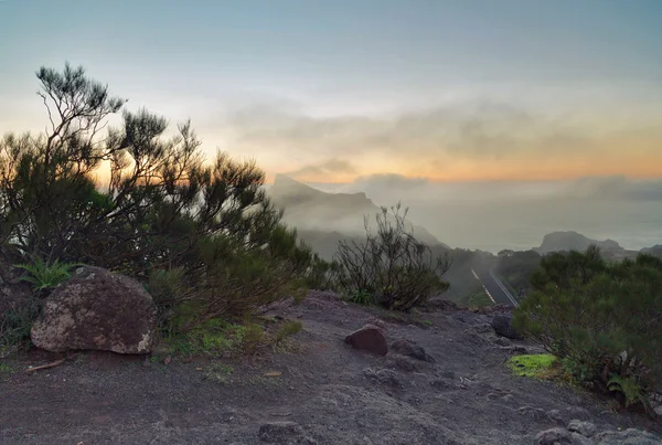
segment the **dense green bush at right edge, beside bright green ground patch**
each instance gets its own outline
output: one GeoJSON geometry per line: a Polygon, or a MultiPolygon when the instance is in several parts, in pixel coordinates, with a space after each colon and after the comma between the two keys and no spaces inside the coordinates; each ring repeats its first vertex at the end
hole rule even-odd
{"type": "Polygon", "coordinates": [[[531,282],[534,292],[513,322],[562,358],[578,381],[621,391],[628,403],[639,390],[659,389],[662,259],[606,263],[591,246],[544,256],[531,282]]]}

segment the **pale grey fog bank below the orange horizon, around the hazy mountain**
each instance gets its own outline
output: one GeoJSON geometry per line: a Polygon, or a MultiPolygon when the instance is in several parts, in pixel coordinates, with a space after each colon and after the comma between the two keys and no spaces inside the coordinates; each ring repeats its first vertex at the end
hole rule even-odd
{"type": "MultiPolygon", "coordinates": [[[[398,201],[408,219],[451,247],[496,253],[538,246],[545,234],[576,231],[611,239],[624,248],[662,243],[662,181],[623,177],[549,182],[452,182],[397,174],[362,177],[352,183],[309,183],[332,193],[364,192],[376,205],[398,201]]],[[[353,204],[361,205],[356,195],[353,204]]],[[[369,209],[369,206],[365,206],[369,209]]],[[[367,210],[370,211],[370,210],[367,210]]],[[[335,206],[297,206],[288,219],[302,229],[359,233],[360,218],[335,206]]]]}

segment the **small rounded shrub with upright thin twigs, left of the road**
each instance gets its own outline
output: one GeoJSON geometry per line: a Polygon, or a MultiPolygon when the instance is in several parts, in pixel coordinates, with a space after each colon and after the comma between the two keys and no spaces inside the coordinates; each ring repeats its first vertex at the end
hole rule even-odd
{"type": "Polygon", "coordinates": [[[335,262],[339,287],[360,300],[374,300],[393,310],[409,310],[448,288],[441,276],[450,267],[447,257],[435,257],[429,246],[407,230],[407,210],[401,204],[376,214],[377,232],[365,218],[364,242],[339,243],[335,262]],[[364,298],[365,295],[372,298],[364,298]]]}

